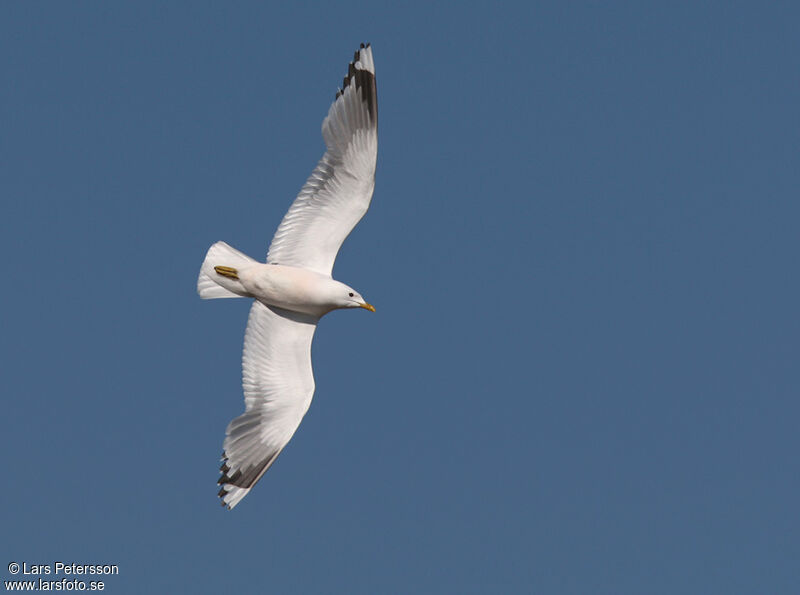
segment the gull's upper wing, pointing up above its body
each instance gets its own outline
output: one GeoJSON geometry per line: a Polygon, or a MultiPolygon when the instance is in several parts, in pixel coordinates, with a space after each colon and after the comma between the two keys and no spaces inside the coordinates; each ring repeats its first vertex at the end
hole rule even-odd
{"type": "Polygon", "coordinates": [[[281,221],[267,262],[330,275],[336,254],[369,208],[378,158],[372,48],[356,52],[322,122],[327,151],[281,221]]]}

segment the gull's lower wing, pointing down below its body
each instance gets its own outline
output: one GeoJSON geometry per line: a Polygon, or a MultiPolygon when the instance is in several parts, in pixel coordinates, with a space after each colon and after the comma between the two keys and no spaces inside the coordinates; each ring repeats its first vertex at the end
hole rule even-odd
{"type": "Polygon", "coordinates": [[[223,506],[233,508],[291,440],[314,395],[311,339],[319,318],[253,302],[242,355],[245,412],[228,424],[223,506]]]}

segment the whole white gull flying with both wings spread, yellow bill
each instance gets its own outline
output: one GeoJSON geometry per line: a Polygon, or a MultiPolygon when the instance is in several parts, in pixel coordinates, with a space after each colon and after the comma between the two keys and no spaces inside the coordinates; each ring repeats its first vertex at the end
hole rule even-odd
{"type": "Polygon", "coordinates": [[[372,48],[361,44],[322,122],[326,152],[272,238],[266,263],[217,242],[197,293],[252,298],[242,355],[245,411],[228,424],[219,497],[236,506],[291,440],[314,395],[311,340],[339,308],[375,308],[331,276],[336,254],[375,188],[378,96],[372,48]]]}

